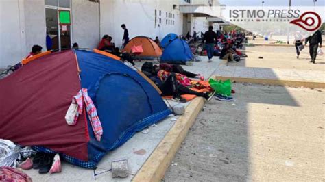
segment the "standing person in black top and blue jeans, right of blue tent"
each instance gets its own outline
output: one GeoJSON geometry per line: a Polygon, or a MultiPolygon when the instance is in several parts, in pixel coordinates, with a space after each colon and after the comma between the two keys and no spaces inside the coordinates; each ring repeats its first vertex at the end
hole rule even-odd
{"type": "Polygon", "coordinates": [[[206,44],[205,48],[208,53],[208,62],[212,62],[213,51],[215,47],[215,42],[217,42],[217,34],[213,31],[213,26],[208,27],[208,31],[203,36],[202,43],[206,44]]]}

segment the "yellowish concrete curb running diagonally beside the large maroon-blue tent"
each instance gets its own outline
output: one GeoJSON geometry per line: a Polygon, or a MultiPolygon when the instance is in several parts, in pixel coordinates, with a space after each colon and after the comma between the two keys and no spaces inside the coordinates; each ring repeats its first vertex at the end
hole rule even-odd
{"type": "Polygon", "coordinates": [[[165,135],[149,156],[145,164],[136,173],[132,181],[161,181],[167,168],[175,157],[178,148],[195,122],[197,115],[204,105],[204,99],[197,97],[186,107],[185,114],[180,116],[173,127],[165,135]]]}

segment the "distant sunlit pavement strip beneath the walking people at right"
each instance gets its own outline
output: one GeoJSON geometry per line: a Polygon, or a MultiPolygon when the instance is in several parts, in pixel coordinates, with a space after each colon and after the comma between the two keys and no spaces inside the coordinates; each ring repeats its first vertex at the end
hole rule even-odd
{"type": "MultiPolygon", "coordinates": [[[[324,50],[324,48],[322,49],[324,50]]],[[[325,71],[324,55],[317,56],[317,64],[311,64],[309,62],[311,59],[308,46],[302,50],[299,59],[296,58],[295,47],[245,47],[245,53],[248,55],[248,58],[241,60],[241,62],[230,62],[228,66],[325,71]],[[258,57],[263,57],[263,59],[258,57]]]]}

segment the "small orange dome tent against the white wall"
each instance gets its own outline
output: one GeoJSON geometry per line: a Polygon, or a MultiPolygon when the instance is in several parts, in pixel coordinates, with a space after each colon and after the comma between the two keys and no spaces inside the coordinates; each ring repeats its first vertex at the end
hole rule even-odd
{"type": "Polygon", "coordinates": [[[158,44],[154,42],[151,38],[145,36],[137,36],[132,38],[128,44],[124,47],[123,51],[131,53],[133,46],[142,45],[143,53],[140,56],[144,57],[160,57],[163,54],[163,51],[160,49],[158,44]]]}

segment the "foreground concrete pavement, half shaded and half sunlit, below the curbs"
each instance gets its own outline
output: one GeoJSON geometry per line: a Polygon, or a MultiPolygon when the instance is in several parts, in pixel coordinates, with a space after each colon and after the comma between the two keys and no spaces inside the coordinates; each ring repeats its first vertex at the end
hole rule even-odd
{"type": "Polygon", "coordinates": [[[325,90],[236,83],[205,105],[165,181],[324,181],[325,90]]]}

